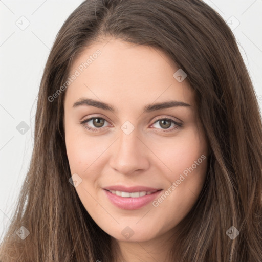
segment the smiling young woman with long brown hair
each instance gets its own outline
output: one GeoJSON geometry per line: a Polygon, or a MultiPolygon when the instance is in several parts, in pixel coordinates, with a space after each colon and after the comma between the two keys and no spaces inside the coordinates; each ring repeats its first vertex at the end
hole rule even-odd
{"type": "Polygon", "coordinates": [[[252,82],[208,5],[84,1],[43,73],[0,260],[261,261],[261,145],[252,82]]]}

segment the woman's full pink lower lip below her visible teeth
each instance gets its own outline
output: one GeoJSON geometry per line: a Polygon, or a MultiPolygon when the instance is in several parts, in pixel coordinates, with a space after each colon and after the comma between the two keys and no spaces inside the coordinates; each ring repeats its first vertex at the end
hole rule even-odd
{"type": "Polygon", "coordinates": [[[121,209],[128,209],[128,210],[134,210],[139,209],[145,205],[147,205],[149,202],[153,201],[162,190],[156,191],[155,193],[146,194],[143,195],[143,197],[139,198],[123,198],[119,197],[119,195],[113,194],[110,191],[105,191],[106,197],[117,207],[121,209]]]}

